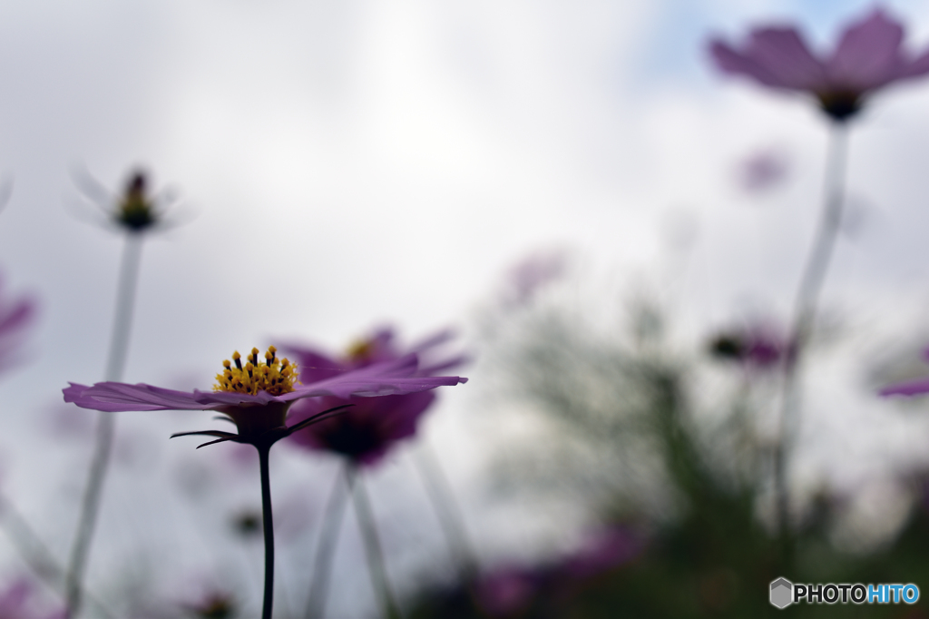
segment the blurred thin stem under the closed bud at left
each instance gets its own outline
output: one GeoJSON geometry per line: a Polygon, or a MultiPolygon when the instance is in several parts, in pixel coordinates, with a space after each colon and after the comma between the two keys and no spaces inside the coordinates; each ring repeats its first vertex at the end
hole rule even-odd
{"type": "MultiPolygon", "coordinates": [[[[141,251],[141,235],[136,233],[127,234],[116,292],[116,312],[113,319],[110,352],[107,358],[106,374],[104,375],[106,380],[120,380],[123,377],[125,356],[129,347],[133,308],[135,306],[141,251]]],[[[97,443],[87,473],[87,486],[81,503],[77,533],[74,535],[71,560],[68,562],[66,619],[76,617],[81,610],[84,573],[90,556],[94,529],[97,525],[100,500],[103,496],[103,484],[110,467],[115,424],[115,415],[98,413],[97,443]]]]}

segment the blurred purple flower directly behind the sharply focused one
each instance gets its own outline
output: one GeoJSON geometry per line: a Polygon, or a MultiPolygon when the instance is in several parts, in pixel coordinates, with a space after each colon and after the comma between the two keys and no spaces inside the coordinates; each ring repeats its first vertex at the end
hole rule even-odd
{"type": "MultiPolygon", "coordinates": [[[[450,338],[449,332],[443,332],[413,347],[412,352],[428,355],[450,338]]],[[[342,358],[331,358],[315,349],[288,347],[288,350],[298,360],[301,379],[311,383],[345,372],[366,370],[376,363],[398,362],[410,352],[397,347],[391,329],[381,329],[360,340],[342,358]]],[[[425,378],[463,361],[461,357],[444,359],[426,365],[415,375],[425,378]]],[[[352,407],[294,434],[294,442],[310,449],[344,455],[355,464],[373,465],[398,441],[416,433],[420,417],[435,400],[435,394],[419,391],[376,399],[334,396],[299,402],[294,405],[295,419],[313,418],[340,405],[352,404],[352,407]]]]}

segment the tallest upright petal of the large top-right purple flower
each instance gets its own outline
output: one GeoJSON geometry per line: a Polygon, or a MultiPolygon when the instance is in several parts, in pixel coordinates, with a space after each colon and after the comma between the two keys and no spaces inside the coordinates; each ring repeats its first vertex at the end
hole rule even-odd
{"type": "Polygon", "coordinates": [[[827,64],[831,85],[864,92],[894,81],[904,69],[902,41],[903,27],[875,10],[843,33],[827,64]]]}

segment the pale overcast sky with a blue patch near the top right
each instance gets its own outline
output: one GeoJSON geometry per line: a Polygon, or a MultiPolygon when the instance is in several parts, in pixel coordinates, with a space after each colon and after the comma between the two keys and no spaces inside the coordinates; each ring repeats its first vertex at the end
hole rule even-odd
{"type": "MultiPolygon", "coordinates": [[[[553,246],[613,276],[673,281],[691,332],[745,308],[784,316],[826,125],[805,99],[721,77],[705,44],[777,20],[829,48],[871,6],[7,3],[0,171],[15,191],[0,266],[43,311],[30,364],[0,385],[2,414],[38,431],[24,412],[102,375],[121,239],[82,218],[81,166],[118,191],[144,165],[183,197],[169,217],[184,225],[143,250],[130,382],[206,387],[233,349],[271,338],[338,349],[388,321],[410,337],[466,324],[506,268],[553,246]],[[782,184],[741,191],[739,163],[772,149],[782,184]]],[[[929,46],[929,2],[887,6],[911,49],[929,46]]],[[[914,81],[857,122],[855,225],[827,308],[873,323],[896,307],[909,320],[925,300],[926,110],[929,82],[914,81]]],[[[0,446],[10,468],[27,457],[15,433],[0,446]]],[[[44,483],[12,478],[19,492],[44,483]]]]}

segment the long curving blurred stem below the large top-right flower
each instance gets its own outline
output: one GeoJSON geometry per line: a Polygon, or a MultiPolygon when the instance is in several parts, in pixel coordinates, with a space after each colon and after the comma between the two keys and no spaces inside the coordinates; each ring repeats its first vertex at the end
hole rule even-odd
{"type": "Polygon", "coordinates": [[[830,127],[829,153],[823,190],[823,208],[819,228],[800,281],[793,309],[790,349],[783,363],[779,441],[774,451],[774,491],[778,527],[782,537],[790,533],[791,496],[787,481],[789,460],[800,417],[801,365],[816,322],[817,304],[829,270],[835,241],[842,226],[845,167],[848,154],[848,125],[833,122],[830,127]]]}

